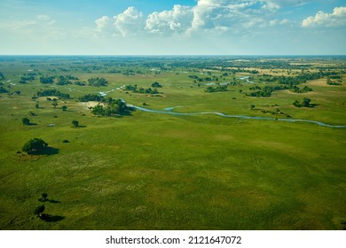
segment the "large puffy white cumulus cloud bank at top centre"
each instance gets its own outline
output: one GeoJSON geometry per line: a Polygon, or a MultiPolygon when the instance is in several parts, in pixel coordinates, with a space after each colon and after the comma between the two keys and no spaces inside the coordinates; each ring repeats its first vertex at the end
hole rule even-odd
{"type": "MultiPolygon", "coordinates": [[[[282,2],[282,1],[281,1],[282,2]]],[[[176,4],[169,11],[152,12],[144,17],[135,7],[113,18],[97,20],[97,32],[112,35],[193,35],[199,32],[238,32],[241,28],[266,27],[266,15],[279,9],[279,0],[198,0],[194,6],[176,4]]],[[[283,0],[283,2],[289,2],[283,0]]],[[[290,1],[302,2],[302,1],[290,1]]],[[[306,2],[306,1],[304,1],[306,2]]],[[[273,20],[271,26],[287,20],[273,20]]]]}

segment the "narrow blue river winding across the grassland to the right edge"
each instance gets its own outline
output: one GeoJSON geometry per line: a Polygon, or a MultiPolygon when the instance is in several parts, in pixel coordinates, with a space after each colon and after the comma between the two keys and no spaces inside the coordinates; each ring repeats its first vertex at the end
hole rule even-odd
{"type": "Polygon", "coordinates": [[[198,115],[198,114],[216,114],[222,117],[239,118],[239,119],[245,119],[245,120],[277,120],[277,121],[287,121],[287,122],[307,122],[307,123],[313,123],[313,124],[317,124],[318,126],[327,127],[327,128],[346,128],[346,126],[330,125],[330,124],[326,124],[324,122],[317,121],[317,120],[300,120],[300,119],[272,118],[272,117],[262,117],[262,116],[248,116],[248,115],[238,115],[238,114],[225,114],[223,112],[172,112],[176,107],[169,107],[169,108],[165,108],[164,110],[151,110],[144,107],[138,107],[135,105],[128,105],[128,106],[138,109],[140,111],[144,111],[144,112],[156,112],[156,113],[172,114],[172,115],[179,115],[179,116],[189,116],[189,115],[191,116],[191,115],[198,115]]]}

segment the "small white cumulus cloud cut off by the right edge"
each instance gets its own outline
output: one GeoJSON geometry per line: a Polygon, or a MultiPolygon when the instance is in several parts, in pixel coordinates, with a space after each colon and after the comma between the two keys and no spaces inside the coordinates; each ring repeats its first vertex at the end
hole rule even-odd
{"type": "Polygon", "coordinates": [[[302,27],[346,26],[346,7],[336,7],[333,13],[318,12],[314,17],[303,19],[302,27]]]}

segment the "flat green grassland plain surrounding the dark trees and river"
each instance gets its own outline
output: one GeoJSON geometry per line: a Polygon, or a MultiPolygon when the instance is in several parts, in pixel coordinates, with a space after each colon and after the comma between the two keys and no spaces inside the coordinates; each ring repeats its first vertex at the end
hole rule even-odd
{"type": "MultiPolygon", "coordinates": [[[[344,228],[346,128],[140,110],[98,117],[77,98],[110,91],[107,97],[130,105],[145,103],[152,110],[177,107],[172,112],[277,118],[271,112],[279,108],[292,119],[346,125],[345,83],[307,81],[304,84],[313,89],[309,93],[279,90],[271,97],[246,97],[240,89],[247,91],[248,83],[207,93],[206,86],[188,77],[209,72],[222,82],[251,75],[246,72],[221,78],[223,72],[217,69],[171,67],[157,74],[155,67],[143,63],[131,60],[122,70],[141,73],[125,75],[110,74],[97,58],[0,60],[5,75],[0,82],[9,92],[20,90],[20,95],[0,94],[0,229],[344,228]],[[81,70],[93,64],[100,69],[81,70]],[[28,69],[42,75],[72,74],[80,81],[98,76],[108,85],[45,85],[39,76],[18,83],[28,69]],[[148,88],[153,81],[163,86],[161,97],[116,89],[128,84],[148,88]],[[58,89],[72,98],[58,99],[54,108],[46,97],[32,99],[39,89],[58,89]],[[292,105],[303,97],[316,106],[292,105]],[[24,126],[24,117],[33,125],[24,126]],[[72,120],[81,127],[73,127],[72,120]],[[17,153],[34,137],[48,143],[49,152],[17,153]],[[35,206],[42,205],[37,199],[43,192],[51,199],[44,203],[51,221],[33,214],[35,206]]],[[[324,63],[334,66],[333,61],[324,63]]],[[[345,65],[344,60],[338,63],[345,65]]],[[[256,76],[254,81],[261,85],[256,76]]]]}

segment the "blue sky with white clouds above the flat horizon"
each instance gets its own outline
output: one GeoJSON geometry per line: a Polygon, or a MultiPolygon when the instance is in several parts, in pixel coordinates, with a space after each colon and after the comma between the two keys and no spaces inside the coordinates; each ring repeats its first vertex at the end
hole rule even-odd
{"type": "Polygon", "coordinates": [[[346,1],[0,0],[0,55],[346,55],[346,1]]]}

